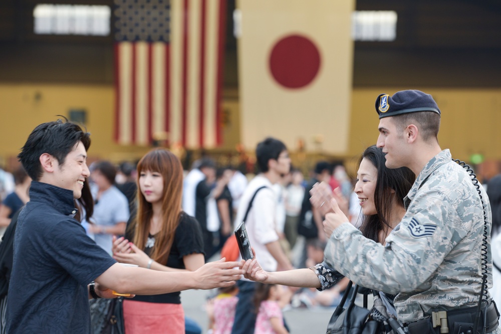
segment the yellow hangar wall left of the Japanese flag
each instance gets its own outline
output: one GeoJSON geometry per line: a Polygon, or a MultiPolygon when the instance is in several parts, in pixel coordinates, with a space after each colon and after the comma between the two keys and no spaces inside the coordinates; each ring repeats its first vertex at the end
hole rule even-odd
{"type": "MultiPolygon", "coordinates": [[[[40,123],[57,120],[57,115],[69,118],[70,110],[86,111],[85,126],[92,139],[88,152],[91,162],[133,161],[151,149],[115,143],[115,100],[110,85],[0,84],[0,101],[0,167],[16,166],[16,156],[30,132],[40,123]]],[[[235,99],[223,104],[222,150],[233,149],[239,141],[237,105],[235,99]]]]}

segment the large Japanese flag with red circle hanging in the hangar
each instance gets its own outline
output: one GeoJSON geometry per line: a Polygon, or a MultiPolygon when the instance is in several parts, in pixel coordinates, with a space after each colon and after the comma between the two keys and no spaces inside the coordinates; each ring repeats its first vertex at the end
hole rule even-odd
{"type": "Polygon", "coordinates": [[[354,0],[241,0],[242,142],[266,136],[290,150],[348,149],[354,0]]]}

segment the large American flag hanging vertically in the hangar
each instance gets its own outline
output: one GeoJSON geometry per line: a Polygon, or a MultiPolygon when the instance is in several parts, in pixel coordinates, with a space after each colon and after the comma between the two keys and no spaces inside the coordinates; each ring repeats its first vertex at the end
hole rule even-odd
{"type": "Polygon", "coordinates": [[[115,0],[115,139],[221,142],[226,0],[115,0]]]}

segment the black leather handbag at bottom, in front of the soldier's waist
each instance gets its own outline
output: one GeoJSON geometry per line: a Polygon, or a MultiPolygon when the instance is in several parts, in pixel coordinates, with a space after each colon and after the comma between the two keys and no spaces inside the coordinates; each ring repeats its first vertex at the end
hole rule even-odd
{"type": "Polygon", "coordinates": [[[355,305],[357,298],[358,285],[353,287],[353,282],[350,281],[345,290],[341,302],[334,310],[334,313],[327,325],[326,334],[376,334],[380,332],[380,322],[369,320],[371,310],[366,307],[355,305]],[[353,290],[350,301],[345,307],[346,299],[353,290]]]}

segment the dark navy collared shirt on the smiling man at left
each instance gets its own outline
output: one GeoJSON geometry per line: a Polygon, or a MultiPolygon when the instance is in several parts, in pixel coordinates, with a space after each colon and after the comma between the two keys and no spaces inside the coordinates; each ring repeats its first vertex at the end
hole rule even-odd
{"type": "Polygon", "coordinates": [[[116,261],[76,212],[73,191],[32,182],[14,238],[7,332],[91,333],[87,284],[116,261]]]}

